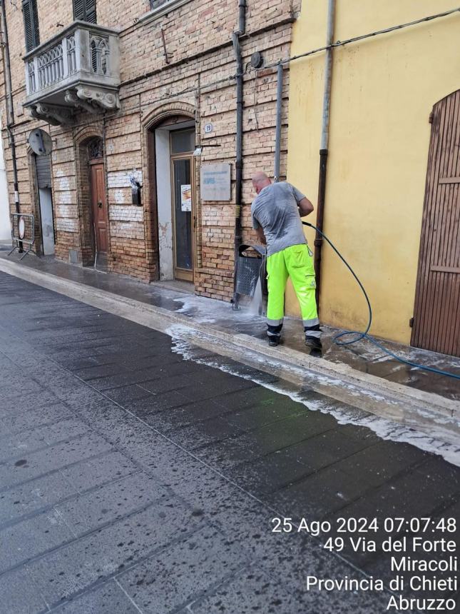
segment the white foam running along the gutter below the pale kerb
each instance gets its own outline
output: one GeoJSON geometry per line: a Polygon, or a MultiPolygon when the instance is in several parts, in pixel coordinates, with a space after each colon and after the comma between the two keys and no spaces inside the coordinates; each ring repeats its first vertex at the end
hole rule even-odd
{"type": "MultiPolygon", "coordinates": [[[[369,428],[382,439],[395,441],[398,443],[409,443],[411,446],[416,446],[416,448],[419,448],[420,450],[423,450],[425,452],[438,454],[439,456],[442,456],[444,460],[447,460],[449,463],[460,467],[460,447],[442,441],[440,436],[436,437],[435,431],[431,435],[427,435],[426,433],[415,431],[413,428],[408,428],[399,423],[389,421],[386,418],[381,418],[380,416],[374,416],[374,414],[366,413],[357,408],[349,408],[349,410],[340,408],[334,400],[331,400],[330,403],[328,403],[327,401],[305,399],[300,393],[297,393],[295,391],[289,391],[287,390],[287,388],[283,388],[282,386],[277,386],[274,383],[267,382],[262,377],[258,378],[254,374],[248,375],[244,372],[245,366],[242,366],[241,371],[238,371],[237,363],[232,364],[232,366],[225,364],[225,357],[220,357],[218,355],[215,355],[212,358],[210,358],[209,356],[203,356],[203,353],[205,353],[206,351],[196,346],[193,346],[193,343],[185,341],[185,339],[183,338],[183,336],[190,335],[190,332],[190,328],[181,324],[175,324],[173,326],[170,326],[165,331],[165,333],[167,333],[173,340],[173,351],[175,353],[181,354],[184,360],[193,361],[195,363],[200,363],[214,368],[218,368],[220,369],[220,371],[224,371],[225,373],[230,373],[231,375],[253,381],[259,386],[263,386],[264,388],[268,388],[282,395],[289,396],[292,401],[302,403],[311,411],[320,411],[322,413],[328,413],[333,416],[339,424],[354,424],[355,426],[364,426],[366,428],[369,428]],[[200,354],[202,354],[202,356],[200,356],[200,354]]],[[[257,361],[259,363],[265,362],[263,358],[257,359],[257,361]]],[[[282,371],[283,369],[285,369],[284,365],[280,368],[280,371],[282,371]]],[[[318,380],[318,377],[316,375],[315,379],[318,380]]],[[[327,377],[322,377],[322,380],[324,381],[324,383],[329,385],[337,386],[337,384],[340,384],[343,386],[344,384],[339,380],[335,381],[332,378],[329,379],[327,377]]],[[[354,389],[357,395],[368,393],[368,391],[358,390],[355,386],[352,385],[347,385],[347,388],[354,389]]],[[[372,392],[369,392],[369,396],[379,398],[379,400],[384,400],[383,397],[379,397],[372,392]]],[[[443,419],[440,417],[438,422],[441,425],[443,423],[443,419]]]]}

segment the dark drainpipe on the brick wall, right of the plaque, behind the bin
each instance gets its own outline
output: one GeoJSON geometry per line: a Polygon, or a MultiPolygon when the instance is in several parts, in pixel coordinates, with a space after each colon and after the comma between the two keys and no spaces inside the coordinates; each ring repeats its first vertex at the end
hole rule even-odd
{"type": "Polygon", "coordinates": [[[246,28],[246,0],[238,1],[239,20],[238,31],[232,34],[233,51],[237,65],[236,75],[236,183],[235,183],[235,267],[233,273],[233,309],[238,309],[238,294],[236,291],[236,275],[238,263],[238,250],[242,241],[241,215],[242,215],[242,56],[240,47],[240,36],[245,34],[246,28]]]}

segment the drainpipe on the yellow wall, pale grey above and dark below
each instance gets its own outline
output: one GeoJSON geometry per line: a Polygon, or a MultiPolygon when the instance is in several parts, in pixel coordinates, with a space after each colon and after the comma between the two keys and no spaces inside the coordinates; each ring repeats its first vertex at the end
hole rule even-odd
{"type": "MultiPolygon", "coordinates": [[[[327,9],[327,45],[334,42],[334,17],[335,0],[329,0],[327,9]]],[[[327,156],[329,154],[329,111],[331,106],[331,83],[332,83],[332,49],[326,49],[326,60],[324,64],[324,97],[322,101],[322,133],[320,147],[320,179],[318,184],[318,207],[316,225],[322,231],[324,221],[324,203],[326,196],[326,177],[327,177],[327,156]]],[[[316,301],[320,304],[321,287],[321,250],[322,236],[316,233],[315,236],[315,276],[316,276],[316,301]]]]}

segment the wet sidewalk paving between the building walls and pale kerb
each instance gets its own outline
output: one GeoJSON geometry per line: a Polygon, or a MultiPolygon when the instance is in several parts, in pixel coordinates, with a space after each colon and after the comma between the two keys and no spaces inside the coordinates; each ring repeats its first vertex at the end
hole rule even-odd
{"type": "MultiPolygon", "coordinates": [[[[9,258],[0,252],[0,258],[19,262],[19,255],[9,258]]],[[[232,333],[245,333],[255,338],[265,339],[265,319],[252,313],[243,304],[240,311],[233,311],[230,303],[195,296],[193,286],[186,283],[142,283],[116,273],[96,271],[91,267],[74,266],[57,261],[51,256],[36,258],[29,255],[21,261],[24,266],[51,273],[58,277],[78,281],[93,288],[134,298],[137,301],[158,306],[169,311],[182,313],[194,321],[209,323],[213,327],[232,333]]],[[[344,363],[358,371],[370,373],[388,381],[432,392],[446,398],[460,401],[460,380],[421,371],[395,361],[384,354],[369,341],[360,341],[352,346],[339,347],[333,343],[337,329],[323,327],[323,358],[333,363],[344,363]]],[[[372,331],[371,331],[372,332],[372,331]]],[[[305,351],[302,326],[296,318],[285,318],[283,343],[297,351],[305,351]]],[[[444,354],[410,348],[399,343],[384,341],[390,351],[402,358],[427,366],[460,374],[460,358],[444,354]]]]}

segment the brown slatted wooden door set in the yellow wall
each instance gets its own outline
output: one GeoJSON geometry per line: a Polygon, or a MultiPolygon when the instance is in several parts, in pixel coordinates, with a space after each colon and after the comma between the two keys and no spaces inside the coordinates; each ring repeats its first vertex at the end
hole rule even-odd
{"type": "Polygon", "coordinates": [[[412,346],[460,356],[460,90],[435,104],[412,346]]]}

